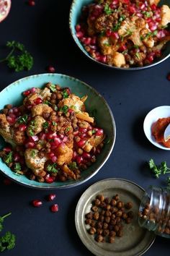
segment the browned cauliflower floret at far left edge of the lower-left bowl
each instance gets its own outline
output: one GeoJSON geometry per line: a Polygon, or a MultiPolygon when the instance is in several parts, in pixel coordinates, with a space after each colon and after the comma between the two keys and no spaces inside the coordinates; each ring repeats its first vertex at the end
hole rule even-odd
{"type": "Polygon", "coordinates": [[[0,135],[4,137],[6,142],[12,142],[12,132],[5,114],[0,114],[0,135]]]}

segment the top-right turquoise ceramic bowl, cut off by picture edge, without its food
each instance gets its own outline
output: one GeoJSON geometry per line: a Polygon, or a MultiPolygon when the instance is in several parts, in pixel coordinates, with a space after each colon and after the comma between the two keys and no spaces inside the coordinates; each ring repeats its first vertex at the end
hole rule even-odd
{"type": "MultiPolygon", "coordinates": [[[[166,59],[169,58],[170,56],[170,42],[166,44],[166,48],[163,51],[163,55],[160,59],[157,61],[153,62],[152,64],[148,66],[143,66],[143,67],[130,67],[128,69],[122,68],[122,67],[112,67],[107,64],[104,64],[102,62],[97,61],[96,59],[93,59],[88,52],[84,49],[84,46],[82,46],[81,42],[79,39],[76,37],[76,30],[75,27],[79,23],[79,18],[81,16],[81,9],[82,7],[94,2],[94,0],[73,0],[71,4],[71,9],[70,9],[70,16],[69,16],[69,26],[71,30],[71,35],[73,36],[73,40],[76,42],[76,45],[79,46],[81,51],[92,61],[97,62],[98,64],[102,64],[105,67],[109,67],[112,69],[121,69],[121,70],[140,70],[140,69],[147,69],[148,67],[153,67],[158,64],[160,64],[162,61],[165,61],[166,59]]],[[[161,0],[159,5],[167,4],[170,6],[170,0],[161,0]]]]}

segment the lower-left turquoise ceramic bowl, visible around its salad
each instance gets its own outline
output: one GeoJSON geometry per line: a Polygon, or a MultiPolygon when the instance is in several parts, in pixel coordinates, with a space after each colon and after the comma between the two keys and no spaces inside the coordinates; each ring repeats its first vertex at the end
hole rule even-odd
{"type": "MultiPolygon", "coordinates": [[[[80,185],[87,180],[89,180],[92,176],[97,174],[100,168],[104,165],[104,163],[109,158],[109,155],[112,153],[112,149],[115,144],[116,137],[116,127],[115,120],[112,116],[112,111],[110,110],[107,102],[104,100],[102,95],[99,95],[94,88],[91,88],[84,82],[77,80],[73,77],[68,77],[64,74],[35,74],[30,77],[22,78],[17,82],[13,82],[11,85],[7,86],[0,93],[0,109],[4,108],[6,104],[13,104],[14,106],[19,106],[22,103],[22,92],[32,87],[42,88],[43,85],[47,82],[52,82],[61,87],[71,88],[71,91],[76,95],[82,97],[83,95],[88,95],[88,99],[86,101],[86,109],[87,111],[97,109],[96,119],[97,126],[102,127],[104,129],[105,134],[107,135],[107,140],[109,141],[104,145],[102,149],[102,153],[98,156],[97,161],[92,164],[89,168],[81,174],[81,179],[73,181],[69,180],[67,182],[53,182],[52,184],[48,183],[40,183],[35,182],[30,179],[27,179],[26,176],[18,176],[14,174],[6,166],[5,163],[1,161],[0,158],[0,170],[3,174],[8,176],[14,182],[18,182],[19,184],[38,188],[38,189],[58,189],[58,188],[68,188],[80,185]]],[[[0,138],[0,147],[2,148],[5,145],[2,137],[0,138]]]]}

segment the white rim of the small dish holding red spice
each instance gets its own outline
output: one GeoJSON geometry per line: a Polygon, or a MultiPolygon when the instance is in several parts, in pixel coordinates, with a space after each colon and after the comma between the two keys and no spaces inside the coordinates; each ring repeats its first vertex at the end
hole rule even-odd
{"type": "MultiPolygon", "coordinates": [[[[170,150],[170,148],[166,148],[163,145],[161,145],[161,143],[156,142],[156,140],[154,139],[153,135],[148,135],[147,129],[146,129],[146,121],[148,120],[148,117],[153,113],[153,111],[156,111],[158,109],[165,109],[165,108],[169,108],[169,116],[170,116],[170,106],[168,105],[162,105],[162,106],[157,106],[156,108],[152,108],[151,111],[148,112],[148,114],[146,114],[146,117],[143,121],[143,131],[147,137],[147,139],[152,143],[152,145],[154,145],[156,148],[160,148],[161,150],[170,150]]],[[[166,116],[164,116],[166,117],[166,116]]],[[[163,118],[163,117],[159,117],[159,118],[163,118]]],[[[158,119],[157,119],[158,120],[158,119]]],[[[150,124],[150,129],[152,126],[153,122],[150,124]]]]}

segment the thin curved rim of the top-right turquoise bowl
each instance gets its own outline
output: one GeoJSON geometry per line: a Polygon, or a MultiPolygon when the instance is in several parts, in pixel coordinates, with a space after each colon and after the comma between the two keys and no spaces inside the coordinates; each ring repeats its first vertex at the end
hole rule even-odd
{"type": "MultiPolygon", "coordinates": [[[[74,7],[74,5],[76,4],[76,1],[78,1],[78,0],[73,0],[73,1],[72,1],[71,7],[70,7],[70,10],[69,10],[69,20],[68,20],[68,22],[69,22],[70,33],[71,33],[71,35],[72,35],[72,38],[73,38],[74,42],[75,42],[76,45],[79,47],[79,50],[81,50],[81,52],[83,52],[83,54],[84,54],[85,56],[89,57],[89,59],[91,59],[91,61],[94,61],[94,62],[96,62],[97,64],[101,64],[102,66],[104,66],[104,67],[109,67],[109,68],[111,68],[111,69],[131,71],[131,70],[143,70],[143,69],[148,69],[148,68],[154,67],[154,66],[160,64],[161,62],[165,61],[166,59],[168,59],[168,58],[170,57],[170,52],[169,52],[169,54],[167,54],[163,59],[160,59],[160,60],[158,60],[158,61],[156,61],[156,62],[153,62],[152,64],[150,64],[150,65],[148,65],[148,66],[143,66],[143,67],[129,67],[129,68],[125,68],[125,67],[114,67],[114,66],[110,66],[110,65],[108,65],[108,64],[104,64],[104,63],[102,63],[102,62],[97,61],[96,59],[92,58],[92,57],[84,50],[84,48],[82,49],[82,48],[80,47],[80,44],[81,44],[81,43],[79,44],[79,43],[76,42],[76,39],[78,39],[78,38],[76,38],[75,33],[73,33],[72,26],[71,26],[71,20],[72,20],[72,16],[73,16],[73,7],[74,7]]],[[[91,2],[92,2],[92,1],[93,1],[93,0],[91,0],[91,2]]],[[[79,40],[79,39],[78,39],[78,40],[79,40]]]]}

